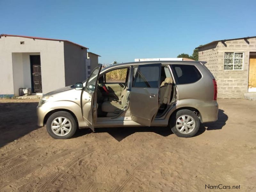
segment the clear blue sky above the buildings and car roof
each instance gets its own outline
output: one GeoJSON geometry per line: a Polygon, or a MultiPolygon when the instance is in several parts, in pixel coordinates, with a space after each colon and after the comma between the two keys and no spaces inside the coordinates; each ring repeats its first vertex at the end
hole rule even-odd
{"type": "Polygon", "coordinates": [[[67,39],[101,55],[100,63],[130,62],[256,36],[255,7],[255,0],[0,0],[0,34],[67,39]]]}

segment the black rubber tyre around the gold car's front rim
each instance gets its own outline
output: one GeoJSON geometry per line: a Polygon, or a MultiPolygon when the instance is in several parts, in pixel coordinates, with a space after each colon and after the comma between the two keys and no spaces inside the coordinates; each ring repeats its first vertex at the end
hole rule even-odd
{"type": "MultiPolygon", "coordinates": [[[[58,121],[58,120],[57,120],[58,121]]],[[[66,111],[58,111],[58,112],[55,112],[53,113],[48,119],[47,119],[47,122],[46,122],[46,129],[47,129],[47,132],[54,138],[54,139],[69,139],[71,138],[75,132],[76,132],[76,129],[77,129],[77,123],[76,123],[76,120],[75,118],[68,112],[66,111]],[[70,122],[71,124],[71,130],[66,134],[66,135],[63,135],[63,136],[60,136],[60,135],[57,135],[55,134],[53,131],[52,131],[52,122],[54,121],[54,119],[58,118],[58,117],[64,117],[64,118],[67,118],[68,121],[70,122]]],[[[61,129],[61,128],[60,128],[61,129]]]]}

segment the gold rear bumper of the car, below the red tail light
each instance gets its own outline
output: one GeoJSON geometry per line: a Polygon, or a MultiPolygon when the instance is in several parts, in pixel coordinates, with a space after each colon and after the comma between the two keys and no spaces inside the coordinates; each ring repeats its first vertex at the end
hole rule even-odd
{"type": "Polygon", "coordinates": [[[219,105],[217,101],[204,103],[197,108],[201,115],[201,123],[213,122],[218,120],[219,105]]]}

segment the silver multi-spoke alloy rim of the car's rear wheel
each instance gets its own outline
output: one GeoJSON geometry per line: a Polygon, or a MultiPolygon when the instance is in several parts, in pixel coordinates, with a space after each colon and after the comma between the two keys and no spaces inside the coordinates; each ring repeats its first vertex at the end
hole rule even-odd
{"type": "Polygon", "coordinates": [[[188,134],[195,129],[195,120],[189,115],[182,115],[176,121],[176,129],[183,134],[188,134]]]}

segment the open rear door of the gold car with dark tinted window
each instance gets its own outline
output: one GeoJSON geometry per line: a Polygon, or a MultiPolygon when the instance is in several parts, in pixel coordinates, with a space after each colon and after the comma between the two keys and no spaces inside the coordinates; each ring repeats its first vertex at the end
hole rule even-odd
{"type": "Polygon", "coordinates": [[[136,74],[133,74],[135,76],[129,97],[132,121],[150,126],[155,118],[160,107],[160,73],[161,64],[150,64],[140,65],[136,74]]]}

